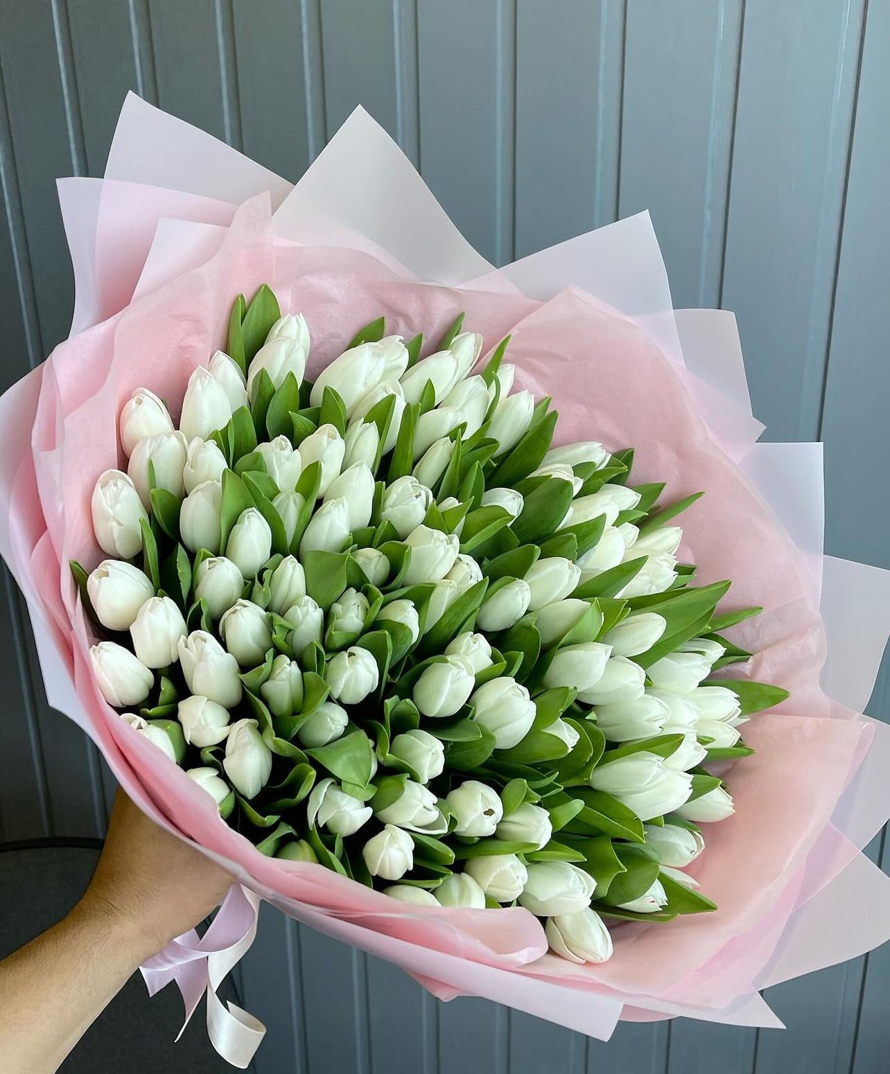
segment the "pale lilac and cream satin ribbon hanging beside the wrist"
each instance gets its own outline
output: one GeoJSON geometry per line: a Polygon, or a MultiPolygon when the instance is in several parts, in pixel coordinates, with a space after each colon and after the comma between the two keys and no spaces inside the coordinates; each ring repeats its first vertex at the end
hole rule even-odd
{"type": "Polygon", "coordinates": [[[230,1000],[224,1003],[216,992],[254,942],[259,904],[258,895],[233,884],[203,937],[195,929],[184,932],[140,967],[149,996],[176,982],[185,1004],[177,1041],[206,995],[211,1044],[240,1070],[249,1065],[265,1027],[230,1000]]]}

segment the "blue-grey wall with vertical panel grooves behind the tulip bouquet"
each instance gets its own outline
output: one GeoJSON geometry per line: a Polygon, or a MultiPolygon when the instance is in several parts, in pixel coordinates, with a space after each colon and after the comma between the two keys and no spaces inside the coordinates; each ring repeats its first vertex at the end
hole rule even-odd
{"type": "MultiPolygon", "coordinates": [[[[492,261],[651,209],[675,305],[737,311],[767,436],[824,440],[828,551],[890,566],[889,49],[890,0],[0,0],[0,381],[67,333],[54,180],[101,174],[128,89],[291,178],[360,102],[492,261]]],[[[96,834],[111,783],[3,586],[0,838],[96,834]]],[[[771,989],[785,1033],[611,1045],[440,1005],[275,912],[243,987],[260,1074],[890,1069],[887,949],[771,989]]]]}

